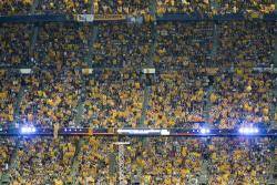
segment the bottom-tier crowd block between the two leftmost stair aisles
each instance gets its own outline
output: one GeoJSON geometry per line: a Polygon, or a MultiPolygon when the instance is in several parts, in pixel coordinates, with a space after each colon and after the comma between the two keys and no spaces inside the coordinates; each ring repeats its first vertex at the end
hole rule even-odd
{"type": "Polygon", "coordinates": [[[22,138],[16,168],[11,169],[12,184],[58,184],[71,182],[71,165],[76,138],[22,138]]]}

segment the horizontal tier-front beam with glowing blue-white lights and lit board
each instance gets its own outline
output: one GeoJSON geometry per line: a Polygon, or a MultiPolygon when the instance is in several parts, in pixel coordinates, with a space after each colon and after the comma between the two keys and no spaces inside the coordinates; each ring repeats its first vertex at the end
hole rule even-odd
{"type": "MultiPolygon", "coordinates": [[[[213,137],[213,136],[277,136],[277,130],[266,130],[256,127],[243,127],[240,131],[234,130],[218,130],[211,129],[208,132],[203,132],[204,129],[73,129],[61,127],[59,129],[58,136],[187,136],[187,137],[213,137]],[[255,131],[255,132],[254,132],[255,131]]],[[[53,136],[53,129],[39,129],[39,127],[21,127],[0,131],[0,136],[53,136]],[[24,130],[23,130],[24,129],[24,130]]]]}

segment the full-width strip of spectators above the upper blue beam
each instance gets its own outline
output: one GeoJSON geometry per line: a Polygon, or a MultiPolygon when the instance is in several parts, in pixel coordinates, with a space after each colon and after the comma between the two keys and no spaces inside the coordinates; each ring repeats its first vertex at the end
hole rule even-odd
{"type": "Polygon", "coordinates": [[[150,13],[152,7],[162,13],[255,13],[266,14],[274,12],[274,0],[254,1],[224,1],[224,0],[2,0],[0,2],[1,14],[29,14],[34,13],[96,13],[96,14],[145,14],[150,13]]]}

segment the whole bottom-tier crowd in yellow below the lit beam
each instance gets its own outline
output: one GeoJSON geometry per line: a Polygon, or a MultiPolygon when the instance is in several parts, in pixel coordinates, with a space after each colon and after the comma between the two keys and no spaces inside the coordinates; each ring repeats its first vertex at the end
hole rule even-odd
{"type": "MultiPolygon", "coordinates": [[[[83,138],[72,176],[78,140],[22,138],[11,184],[119,183],[120,151],[112,137],[83,138]]],[[[130,142],[123,146],[126,184],[268,184],[276,155],[270,138],[145,140],[124,140],[130,142]]],[[[3,151],[4,158],[10,148],[3,151]]]]}

